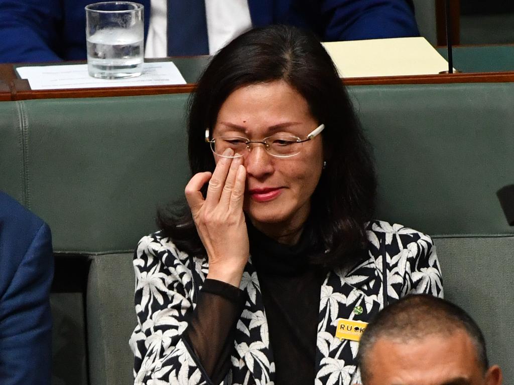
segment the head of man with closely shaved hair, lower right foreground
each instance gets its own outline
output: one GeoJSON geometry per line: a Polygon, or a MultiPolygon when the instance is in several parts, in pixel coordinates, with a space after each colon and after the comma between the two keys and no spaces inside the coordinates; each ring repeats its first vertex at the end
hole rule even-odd
{"type": "Polygon", "coordinates": [[[382,310],[362,335],[358,359],[364,385],[501,383],[498,367],[489,374],[478,325],[460,307],[428,295],[382,310]]]}

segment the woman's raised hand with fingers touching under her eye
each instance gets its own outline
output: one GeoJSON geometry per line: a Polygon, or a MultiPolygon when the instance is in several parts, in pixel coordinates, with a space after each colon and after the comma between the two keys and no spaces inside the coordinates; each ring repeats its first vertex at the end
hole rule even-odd
{"type": "MultiPolygon", "coordinates": [[[[231,156],[233,151],[227,149],[224,155],[231,156]]],[[[186,199],[209,257],[207,277],[237,287],[250,254],[243,214],[246,170],[242,161],[243,157],[221,158],[212,175],[199,172],[186,186],[186,199]],[[200,189],[207,182],[204,200],[200,189]]]]}

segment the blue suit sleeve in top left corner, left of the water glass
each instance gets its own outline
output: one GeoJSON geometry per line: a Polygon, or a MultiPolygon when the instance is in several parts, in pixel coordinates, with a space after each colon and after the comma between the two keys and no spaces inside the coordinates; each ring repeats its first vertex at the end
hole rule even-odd
{"type": "Polygon", "coordinates": [[[58,0],[0,0],[0,62],[60,61],[61,18],[58,0]]]}

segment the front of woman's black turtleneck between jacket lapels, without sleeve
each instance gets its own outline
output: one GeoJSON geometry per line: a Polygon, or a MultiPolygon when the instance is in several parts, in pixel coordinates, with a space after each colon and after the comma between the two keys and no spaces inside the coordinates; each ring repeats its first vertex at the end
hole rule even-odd
{"type": "Polygon", "coordinates": [[[250,255],[261,285],[275,383],[309,384],[315,379],[320,290],[325,273],[308,261],[316,249],[302,234],[284,245],[251,228],[250,255]]]}

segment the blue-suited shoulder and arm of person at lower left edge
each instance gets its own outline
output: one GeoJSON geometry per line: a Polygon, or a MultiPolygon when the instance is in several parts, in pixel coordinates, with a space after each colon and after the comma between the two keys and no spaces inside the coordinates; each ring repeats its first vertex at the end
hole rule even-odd
{"type": "Polygon", "coordinates": [[[50,228],[0,191],[0,384],[50,383],[50,228]]]}

